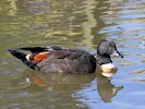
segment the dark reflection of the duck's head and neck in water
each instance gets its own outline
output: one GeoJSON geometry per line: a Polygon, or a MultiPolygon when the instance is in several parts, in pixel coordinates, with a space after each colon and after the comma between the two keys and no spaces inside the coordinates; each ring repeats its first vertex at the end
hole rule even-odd
{"type": "MultiPolygon", "coordinates": [[[[112,75],[113,74],[114,72],[112,73],[112,75]]],[[[123,88],[123,86],[116,87],[111,83],[111,78],[101,75],[101,73],[97,73],[96,81],[97,81],[98,94],[101,97],[101,100],[105,102],[111,102],[111,98],[114,97],[117,93],[123,88]]]]}

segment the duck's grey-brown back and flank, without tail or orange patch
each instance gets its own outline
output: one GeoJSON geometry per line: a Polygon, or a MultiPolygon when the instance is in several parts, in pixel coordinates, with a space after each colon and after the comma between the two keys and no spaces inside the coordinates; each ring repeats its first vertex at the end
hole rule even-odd
{"type": "Polygon", "coordinates": [[[96,59],[84,50],[57,49],[49,51],[49,57],[37,63],[46,73],[93,73],[96,59]]]}

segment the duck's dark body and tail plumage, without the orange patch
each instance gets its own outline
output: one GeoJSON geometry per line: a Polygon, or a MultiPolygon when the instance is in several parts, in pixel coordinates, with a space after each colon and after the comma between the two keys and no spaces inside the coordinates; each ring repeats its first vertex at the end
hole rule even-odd
{"type": "Polygon", "coordinates": [[[26,55],[17,50],[9,50],[11,55],[21,59],[28,68],[40,70],[45,73],[93,73],[96,70],[96,59],[93,55],[78,49],[65,49],[59,46],[49,48],[34,47],[21,48],[35,55],[49,52],[49,56],[39,62],[31,62],[26,55]]]}

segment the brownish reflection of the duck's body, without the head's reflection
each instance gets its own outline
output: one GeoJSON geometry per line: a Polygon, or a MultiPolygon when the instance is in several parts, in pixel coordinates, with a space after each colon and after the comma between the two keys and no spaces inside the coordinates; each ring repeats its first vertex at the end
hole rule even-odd
{"type": "Polygon", "coordinates": [[[80,90],[83,85],[89,84],[96,76],[92,74],[57,74],[26,72],[26,81],[29,86],[51,87],[52,90],[74,93],[80,90]]]}

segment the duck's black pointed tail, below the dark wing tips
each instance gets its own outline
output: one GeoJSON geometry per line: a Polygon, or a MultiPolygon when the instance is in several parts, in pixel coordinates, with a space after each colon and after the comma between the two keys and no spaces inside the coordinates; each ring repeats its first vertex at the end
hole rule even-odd
{"type": "Polygon", "coordinates": [[[14,56],[15,58],[20,59],[26,66],[28,66],[29,69],[33,69],[33,70],[39,70],[39,68],[37,66],[37,64],[28,61],[26,59],[26,56],[25,53],[23,52],[20,52],[17,50],[13,50],[13,49],[9,49],[8,50],[12,56],[14,56]]]}

